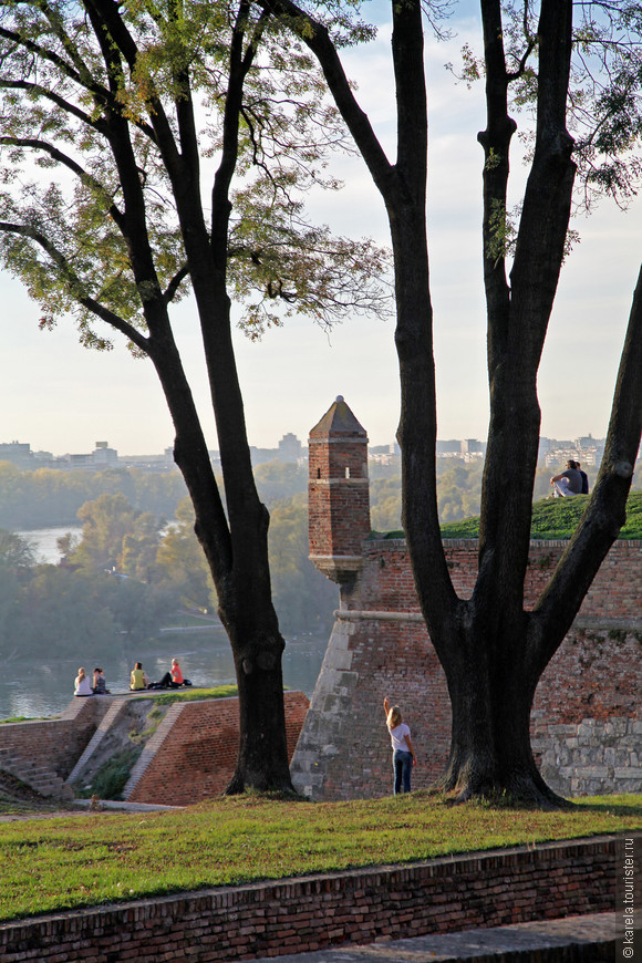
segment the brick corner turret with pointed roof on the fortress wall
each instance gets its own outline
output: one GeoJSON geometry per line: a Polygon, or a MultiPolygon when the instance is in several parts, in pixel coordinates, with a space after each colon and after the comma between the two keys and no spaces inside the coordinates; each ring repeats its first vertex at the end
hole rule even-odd
{"type": "Polygon", "coordinates": [[[332,581],[355,578],[370,534],[367,435],[339,395],[309,438],[310,560],[332,581]]]}

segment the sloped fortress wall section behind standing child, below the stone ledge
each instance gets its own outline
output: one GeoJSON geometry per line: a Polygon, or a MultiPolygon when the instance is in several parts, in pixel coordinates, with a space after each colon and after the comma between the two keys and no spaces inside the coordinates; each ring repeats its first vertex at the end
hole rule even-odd
{"type": "Polygon", "coordinates": [[[448,757],[446,677],[420,617],[413,621],[340,618],[291,764],[296,788],[312,799],[377,798],[392,793],[392,749],[383,696],[411,725],[425,788],[448,757]]]}

